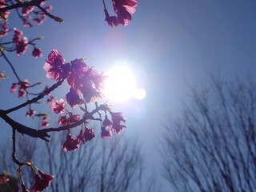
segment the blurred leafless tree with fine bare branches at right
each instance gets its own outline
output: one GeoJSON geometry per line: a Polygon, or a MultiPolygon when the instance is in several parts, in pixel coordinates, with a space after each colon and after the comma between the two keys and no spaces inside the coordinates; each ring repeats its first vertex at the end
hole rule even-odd
{"type": "Polygon", "coordinates": [[[174,191],[255,191],[256,83],[211,78],[194,88],[160,140],[174,191]]]}

